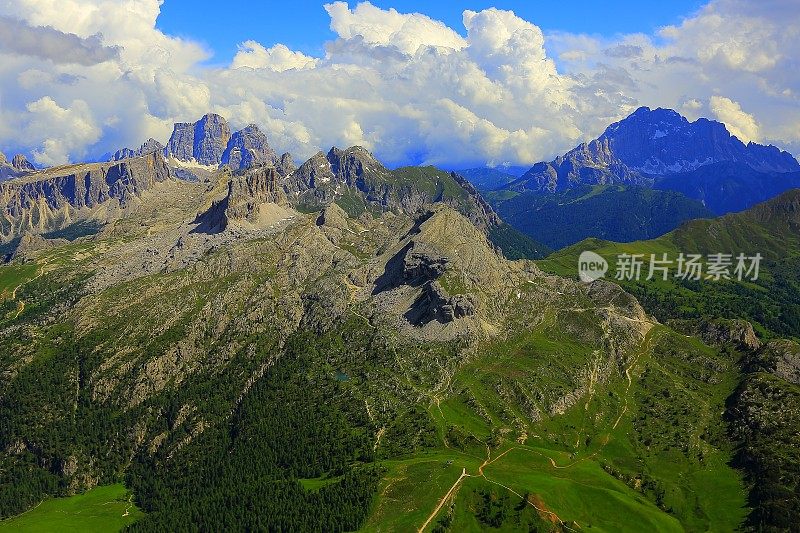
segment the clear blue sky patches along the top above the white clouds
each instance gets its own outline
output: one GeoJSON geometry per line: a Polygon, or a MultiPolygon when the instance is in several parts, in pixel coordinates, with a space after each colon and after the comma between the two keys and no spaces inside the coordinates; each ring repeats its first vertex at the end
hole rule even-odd
{"type": "MultiPolygon", "coordinates": [[[[327,0],[165,0],[157,26],[165,33],[203,43],[214,56],[211,63],[226,63],[237,45],[253,39],[265,46],[283,43],[309,55],[323,55],[324,42],[335,38],[330,17],[323,9],[327,0]]],[[[620,33],[652,33],[676,24],[702,7],[699,0],[484,0],[430,2],[421,0],[372,0],[383,9],[419,12],[441,20],[464,34],[461,13],[497,7],[514,11],[545,32],[564,31],[613,36],[620,33]]],[[[349,2],[354,7],[356,2],[349,2]]]]}

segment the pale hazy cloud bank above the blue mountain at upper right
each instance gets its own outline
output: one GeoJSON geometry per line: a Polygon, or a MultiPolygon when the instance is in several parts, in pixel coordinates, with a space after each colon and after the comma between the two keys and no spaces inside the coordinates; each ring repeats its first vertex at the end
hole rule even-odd
{"type": "Polygon", "coordinates": [[[724,113],[723,121],[737,136],[800,152],[800,136],[791,126],[800,122],[800,7],[795,0],[712,0],[655,35],[604,40],[554,34],[549,49],[564,73],[591,80],[587,88],[597,88],[600,80],[592,77],[613,66],[628,74],[628,82],[607,85],[601,89],[605,94],[617,91],[637,105],[673,107],[693,119],[723,120],[724,113]],[[632,46],[641,53],[616,53],[632,46]]]}

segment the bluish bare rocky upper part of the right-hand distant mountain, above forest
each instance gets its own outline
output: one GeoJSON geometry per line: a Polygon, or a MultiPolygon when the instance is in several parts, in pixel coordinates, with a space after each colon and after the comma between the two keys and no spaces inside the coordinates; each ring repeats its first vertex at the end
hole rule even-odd
{"type": "Polygon", "coordinates": [[[554,191],[579,183],[651,185],[654,176],[691,172],[720,162],[759,172],[800,170],[791,154],[774,146],[745,145],[720,122],[689,122],[669,109],[642,107],[597,139],[549,163],[537,163],[511,188],[554,191]]]}

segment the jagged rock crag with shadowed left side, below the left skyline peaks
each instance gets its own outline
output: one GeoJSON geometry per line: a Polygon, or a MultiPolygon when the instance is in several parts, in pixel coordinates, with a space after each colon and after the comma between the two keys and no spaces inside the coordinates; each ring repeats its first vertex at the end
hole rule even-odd
{"type": "Polygon", "coordinates": [[[286,195],[279,184],[280,176],[273,167],[260,167],[228,182],[228,193],[222,200],[197,217],[198,231],[219,233],[236,222],[256,224],[263,204],[286,204],[286,195]]]}

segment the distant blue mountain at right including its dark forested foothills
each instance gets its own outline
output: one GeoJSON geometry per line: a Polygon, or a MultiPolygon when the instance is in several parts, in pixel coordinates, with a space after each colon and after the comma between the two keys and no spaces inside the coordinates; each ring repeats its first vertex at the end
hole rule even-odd
{"type": "Polygon", "coordinates": [[[589,236],[653,238],[800,187],[788,152],[744,144],[720,122],[647,107],[513,181],[494,169],[465,175],[505,220],[556,248],[589,236]]]}

